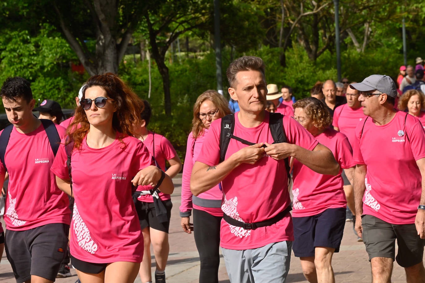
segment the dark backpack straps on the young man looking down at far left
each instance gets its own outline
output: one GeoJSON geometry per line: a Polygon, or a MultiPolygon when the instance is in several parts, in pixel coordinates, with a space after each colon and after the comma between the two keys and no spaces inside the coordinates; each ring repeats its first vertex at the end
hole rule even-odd
{"type": "MultiPolygon", "coordinates": [[[[59,133],[57,132],[56,126],[51,120],[48,120],[48,119],[40,119],[40,121],[43,124],[44,130],[49,139],[49,143],[53,151],[53,154],[54,156],[56,156],[56,153],[57,153],[57,150],[59,149],[59,144],[60,144],[60,137],[59,137],[59,133]]],[[[7,171],[7,167],[4,161],[4,156],[6,154],[6,147],[7,147],[7,144],[9,143],[12,129],[13,129],[13,125],[8,125],[6,128],[4,128],[3,132],[0,135],[0,160],[3,163],[3,166],[6,171],[7,171]]],[[[34,149],[34,150],[37,150],[37,149],[34,149]]]]}

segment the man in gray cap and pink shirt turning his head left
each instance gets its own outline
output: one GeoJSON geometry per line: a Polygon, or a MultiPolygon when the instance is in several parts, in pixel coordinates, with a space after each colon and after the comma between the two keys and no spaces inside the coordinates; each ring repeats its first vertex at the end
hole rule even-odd
{"type": "Polygon", "coordinates": [[[371,75],[350,88],[360,91],[367,116],[355,132],[354,198],[372,280],[391,282],[395,259],[407,282],[424,282],[425,132],[419,120],[394,109],[397,90],[389,76],[371,75]]]}

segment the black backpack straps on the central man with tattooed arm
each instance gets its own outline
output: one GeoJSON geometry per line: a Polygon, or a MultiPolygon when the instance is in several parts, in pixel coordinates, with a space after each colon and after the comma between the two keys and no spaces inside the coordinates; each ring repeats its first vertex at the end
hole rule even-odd
{"type": "MultiPolygon", "coordinates": [[[[235,139],[243,144],[253,145],[255,143],[248,142],[244,139],[241,139],[237,136],[233,136],[233,129],[235,126],[235,116],[234,114],[229,114],[221,118],[221,131],[220,131],[220,162],[224,161],[226,156],[227,147],[229,146],[230,139],[235,139]]],[[[278,144],[280,142],[287,142],[286,134],[283,129],[283,115],[280,113],[269,113],[269,129],[273,137],[273,144],[278,144]]],[[[266,147],[266,145],[263,145],[266,147]]],[[[288,180],[291,179],[291,174],[289,173],[289,157],[283,159],[286,167],[286,174],[288,180]]]]}

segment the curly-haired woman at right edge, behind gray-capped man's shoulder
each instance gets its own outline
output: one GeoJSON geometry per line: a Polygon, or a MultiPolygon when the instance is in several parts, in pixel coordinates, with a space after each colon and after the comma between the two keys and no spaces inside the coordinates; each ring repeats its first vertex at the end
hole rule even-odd
{"type": "Polygon", "coordinates": [[[401,111],[407,110],[407,112],[415,116],[421,122],[422,126],[425,127],[425,95],[422,91],[411,89],[403,93],[398,102],[398,109],[401,111]]]}

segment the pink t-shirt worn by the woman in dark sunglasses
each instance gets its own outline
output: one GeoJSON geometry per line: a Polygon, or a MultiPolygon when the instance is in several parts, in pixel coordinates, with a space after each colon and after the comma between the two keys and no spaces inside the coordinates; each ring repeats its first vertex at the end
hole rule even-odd
{"type": "MultiPolygon", "coordinates": [[[[118,133],[117,133],[118,136],[118,133]]],[[[91,263],[141,262],[143,235],[131,197],[131,180],[153,164],[144,144],[126,136],[107,147],[88,147],[71,155],[74,214],[71,222],[70,251],[79,260],[91,263]],[[123,142],[123,143],[122,143],[123,142]]],[[[69,179],[67,156],[59,147],[52,172],[69,179]]]]}

